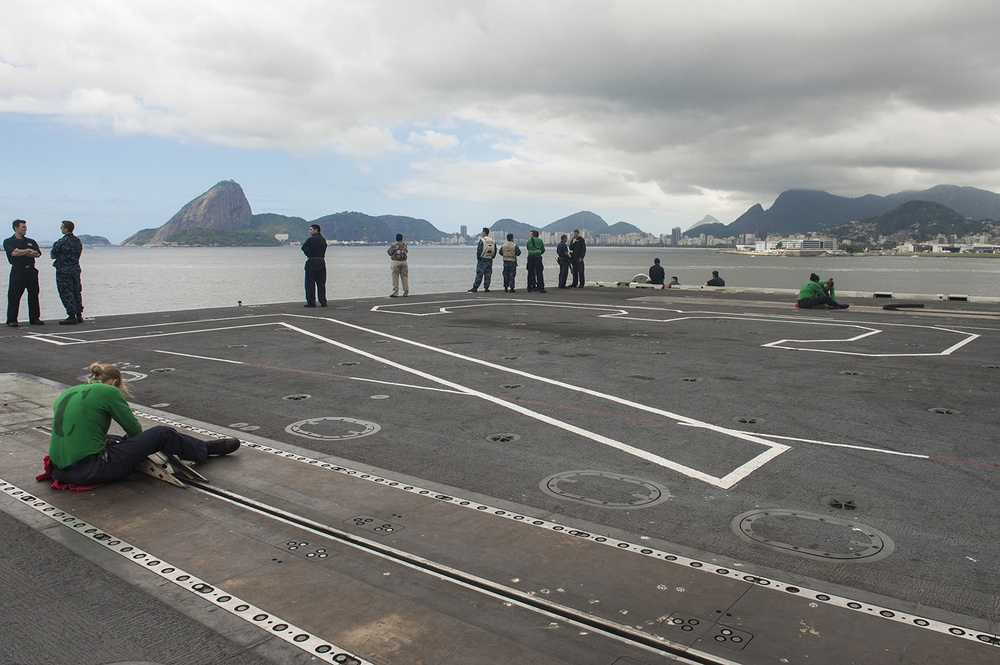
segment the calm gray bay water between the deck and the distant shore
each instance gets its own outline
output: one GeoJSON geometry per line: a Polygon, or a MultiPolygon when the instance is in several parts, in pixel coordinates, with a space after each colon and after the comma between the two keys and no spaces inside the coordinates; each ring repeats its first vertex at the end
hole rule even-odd
{"type": "MultiPolygon", "coordinates": [[[[465,291],[475,276],[471,247],[410,248],[412,294],[465,291]]],[[[47,255],[47,250],[45,250],[47,255]]],[[[592,247],[588,281],[622,281],[645,273],[659,257],[681,284],[703,284],[718,270],[731,286],[798,288],[816,272],[843,291],[892,291],[1000,297],[1000,259],[750,257],[714,250],[592,247]]],[[[524,257],[517,284],[523,288],[524,257]]],[[[83,253],[83,299],[88,316],[304,301],[302,252],[297,247],[88,247],[83,253]]],[[[65,317],[50,262],[39,260],[42,317],[65,317]]],[[[501,262],[493,279],[502,293],[501,262]]],[[[383,247],[331,247],[327,296],[386,296],[389,257],[383,247]]],[[[546,283],[555,286],[555,248],[545,254],[546,283]]],[[[27,303],[21,304],[27,318],[27,303]]]]}

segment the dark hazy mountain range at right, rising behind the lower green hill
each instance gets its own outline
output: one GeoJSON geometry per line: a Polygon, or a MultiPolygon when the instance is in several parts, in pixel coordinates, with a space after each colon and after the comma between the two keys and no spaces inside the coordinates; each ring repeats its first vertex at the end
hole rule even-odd
{"type": "Polygon", "coordinates": [[[782,192],[767,210],[756,204],[731,224],[721,228],[714,224],[699,225],[686,231],[685,235],[711,233],[724,238],[741,233],[808,233],[876,217],[909,201],[939,203],[973,219],[1000,219],[1000,194],[975,187],[937,185],[924,191],[898,192],[888,196],[867,194],[858,198],[791,189],[782,192]]]}

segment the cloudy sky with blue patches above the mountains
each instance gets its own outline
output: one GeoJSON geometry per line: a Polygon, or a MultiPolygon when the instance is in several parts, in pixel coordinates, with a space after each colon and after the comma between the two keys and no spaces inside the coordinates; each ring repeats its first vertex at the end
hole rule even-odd
{"type": "Polygon", "coordinates": [[[995,0],[4,0],[0,214],[120,242],[235,180],[255,213],[669,233],[788,189],[998,191],[998,25],[995,0]]]}

